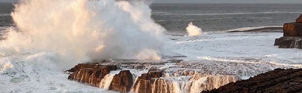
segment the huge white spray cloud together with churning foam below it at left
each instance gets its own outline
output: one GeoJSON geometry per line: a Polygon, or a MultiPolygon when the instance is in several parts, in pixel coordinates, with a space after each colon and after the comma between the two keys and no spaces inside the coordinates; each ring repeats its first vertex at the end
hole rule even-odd
{"type": "Polygon", "coordinates": [[[22,0],[11,14],[16,28],[0,41],[0,93],[110,93],[70,81],[63,71],[99,59],[160,59],[169,39],[148,4],[22,0]]]}

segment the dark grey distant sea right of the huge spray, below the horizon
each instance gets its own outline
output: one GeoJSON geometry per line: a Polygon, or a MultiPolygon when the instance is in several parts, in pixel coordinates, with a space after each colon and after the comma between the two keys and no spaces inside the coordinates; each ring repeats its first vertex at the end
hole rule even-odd
{"type": "Polygon", "coordinates": [[[152,18],[168,31],[192,22],[203,31],[283,26],[302,14],[302,4],[151,4],[152,18]]]}

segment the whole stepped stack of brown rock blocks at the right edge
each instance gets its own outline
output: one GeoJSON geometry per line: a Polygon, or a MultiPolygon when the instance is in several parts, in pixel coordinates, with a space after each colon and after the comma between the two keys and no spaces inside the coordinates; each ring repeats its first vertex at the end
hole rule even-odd
{"type": "Polygon", "coordinates": [[[279,48],[300,48],[302,49],[302,15],[295,23],[283,25],[283,37],[275,40],[275,46],[279,48]]]}

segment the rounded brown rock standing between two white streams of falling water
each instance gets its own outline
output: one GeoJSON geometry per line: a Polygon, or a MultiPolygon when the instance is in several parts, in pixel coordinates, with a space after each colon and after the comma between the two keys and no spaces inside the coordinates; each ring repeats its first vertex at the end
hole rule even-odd
{"type": "Polygon", "coordinates": [[[109,90],[128,93],[133,85],[133,75],[129,70],[120,71],[113,77],[109,90]]]}

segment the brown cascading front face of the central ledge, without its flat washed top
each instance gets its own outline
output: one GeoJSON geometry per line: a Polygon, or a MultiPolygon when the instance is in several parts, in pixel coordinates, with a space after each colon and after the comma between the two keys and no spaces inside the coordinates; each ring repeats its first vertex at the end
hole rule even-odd
{"type": "MultiPolygon", "coordinates": [[[[173,62],[171,60],[171,63],[173,62]]],[[[135,66],[124,68],[129,67],[126,65],[128,62],[80,63],[66,72],[70,74],[70,80],[121,93],[199,93],[240,79],[233,75],[206,74],[188,69],[167,70],[169,68],[151,67],[148,70],[134,69],[137,68],[135,66]]]]}

